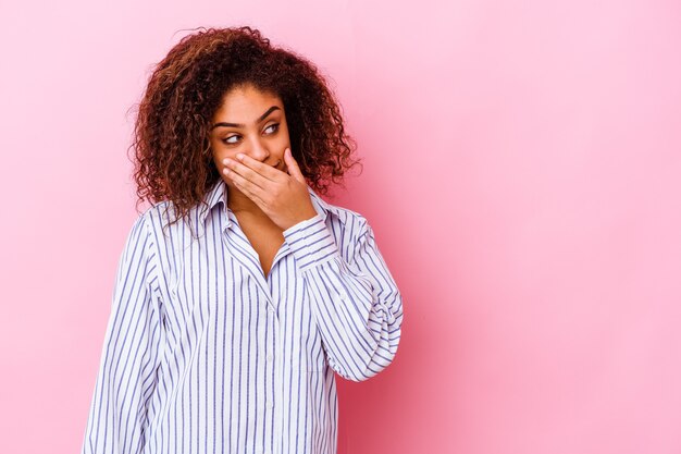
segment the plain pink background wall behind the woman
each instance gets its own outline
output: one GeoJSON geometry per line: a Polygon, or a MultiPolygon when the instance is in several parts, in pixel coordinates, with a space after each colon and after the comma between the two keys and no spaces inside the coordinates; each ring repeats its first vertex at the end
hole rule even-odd
{"type": "Polygon", "coordinates": [[[151,65],[259,27],[331,76],[400,286],[340,454],[681,452],[681,3],[0,3],[0,452],[81,449],[151,65]],[[191,3],[191,4],[189,4],[191,3]]]}

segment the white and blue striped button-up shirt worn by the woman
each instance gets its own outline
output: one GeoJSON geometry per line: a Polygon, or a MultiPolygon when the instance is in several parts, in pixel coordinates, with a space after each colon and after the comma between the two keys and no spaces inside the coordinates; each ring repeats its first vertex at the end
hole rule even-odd
{"type": "Polygon", "coordinates": [[[336,452],[334,372],[386,368],[403,305],[367,219],[308,191],[318,213],[283,232],[268,277],[222,180],[188,222],[164,225],[169,201],[137,218],[83,454],[336,452]]]}

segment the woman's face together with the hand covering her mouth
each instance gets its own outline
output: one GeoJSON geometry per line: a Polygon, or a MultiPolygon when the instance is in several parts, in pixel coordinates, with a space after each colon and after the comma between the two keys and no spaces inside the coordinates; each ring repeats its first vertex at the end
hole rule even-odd
{"type": "Polygon", "coordinates": [[[317,216],[290,155],[286,112],[277,95],[251,84],[235,87],[223,96],[211,125],[213,162],[235,214],[281,231],[317,216]]]}

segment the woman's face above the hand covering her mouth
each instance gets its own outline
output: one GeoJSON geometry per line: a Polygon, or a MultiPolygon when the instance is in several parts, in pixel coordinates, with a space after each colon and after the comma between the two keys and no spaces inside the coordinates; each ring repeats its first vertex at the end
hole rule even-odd
{"type": "Polygon", "coordinates": [[[236,160],[239,152],[286,172],[284,150],[290,140],[284,103],[278,96],[252,85],[235,87],[223,96],[211,126],[213,162],[230,188],[238,191],[230,176],[222,173],[225,167],[222,160],[236,160]]]}

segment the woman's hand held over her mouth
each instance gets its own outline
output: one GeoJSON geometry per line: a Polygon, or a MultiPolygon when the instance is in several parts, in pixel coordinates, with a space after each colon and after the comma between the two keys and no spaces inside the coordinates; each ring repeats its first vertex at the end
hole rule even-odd
{"type": "Polygon", "coordinates": [[[284,151],[288,173],[244,154],[236,157],[240,162],[228,158],[222,161],[225,164],[223,173],[282,231],[317,216],[305,176],[292,156],[290,148],[284,151]]]}

